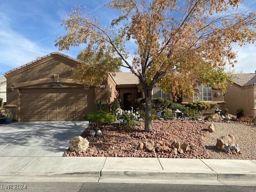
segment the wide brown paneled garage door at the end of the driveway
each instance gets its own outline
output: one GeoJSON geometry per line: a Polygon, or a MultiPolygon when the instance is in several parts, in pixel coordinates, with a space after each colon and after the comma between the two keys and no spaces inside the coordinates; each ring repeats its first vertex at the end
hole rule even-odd
{"type": "Polygon", "coordinates": [[[93,110],[92,88],[20,89],[20,121],[82,120],[93,110]]]}

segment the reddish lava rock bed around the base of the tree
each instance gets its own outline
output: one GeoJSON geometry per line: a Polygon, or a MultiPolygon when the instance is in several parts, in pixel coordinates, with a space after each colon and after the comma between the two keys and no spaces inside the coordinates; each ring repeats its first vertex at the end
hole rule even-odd
{"type": "Polygon", "coordinates": [[[89,148],[81,153],[67,150],[63,156],[83,157],[162,157],[162,158],[211,158],[204,146],[204,137],[209,133],[208,124],[192,122],[153,121],[153,132],[144,132],[144,123],[134,127],[130,131],[120,131],[113,125],[106,126],[102,130],[103,136],[90,137],[90,128],[87,128],[81,136],[90,144],[89,148]],[[137,150],[139,142],[153,140],[155,143],[163,141],[172,144],[174,140],[180,143],[192,145],[192,148],[184,154],[173,155],[170,152],[147,152],[145,149],[137,150]]]}

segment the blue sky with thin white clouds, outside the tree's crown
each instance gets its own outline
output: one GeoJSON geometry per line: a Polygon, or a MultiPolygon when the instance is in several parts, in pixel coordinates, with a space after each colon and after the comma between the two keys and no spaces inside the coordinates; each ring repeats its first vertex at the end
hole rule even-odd
{"type": "MultiPolygon", "coordinates": [[[[108,0],[106,0],[108,2],[108,0]]],[[[0,75],[43,56],[58,51],[56,36],[64,33],[62,18],[76,5],[98,16],[102,25],[109,25],[118,12],[103,6],[106,1],[95,0],[0,0],[0,75]]],[[[241,9],[256,9],[254,0],[244,0],[241,9]]],[[[62,53],[77,56],[82,47],[62,53]]],[[[256,70],[256,47],[249,45],[238,50],[236,71],[256,70]]]]}

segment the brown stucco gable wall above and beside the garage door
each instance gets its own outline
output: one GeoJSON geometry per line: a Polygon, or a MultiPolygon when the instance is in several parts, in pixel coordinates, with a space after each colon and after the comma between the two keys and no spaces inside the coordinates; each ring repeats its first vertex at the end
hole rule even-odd
{"type": "MultiPolygon", "coordinates": [[[[64,88],[83,87],[82,84],[76,84],[72,81],[72,68],[76,62],[68,58],[53,55],[39,62],[36,62],[25,68],[21,68],[11,74],[7,74],[7,100],[6,109],[15,110],[14,120],[18,119],[19,112],[19,89],[22,88],[51,88],[51,83],[56,82],[56,75],[59,82],[64,88]],[[55,78],[54,78],[55,75],[55,78]],[[10,88],[14,87],[11,91],[10,88]]],[[[108,99],[108,83],[104,82],[105,88],[94,91],[94,100],[109,100],[108,99]]],[[[86,92],[87,90],[85,90],[86,92]]],[[[39,92],[40,93],[40,92],[39,92]]],[[[96,110],[95,104],[90,104],[90,110],[96,110]]]]}

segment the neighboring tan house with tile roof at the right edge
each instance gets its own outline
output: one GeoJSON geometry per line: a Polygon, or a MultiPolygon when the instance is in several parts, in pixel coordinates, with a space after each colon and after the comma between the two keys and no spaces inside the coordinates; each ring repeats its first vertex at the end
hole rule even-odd
{"type": "Polygon", "coordinates": [[[232,81],[224,94],[225,108],[236,115],[237,108],[243,107],[245,115],[256,116],[256,71],[254,74],[235,74],[232,81]]]}

